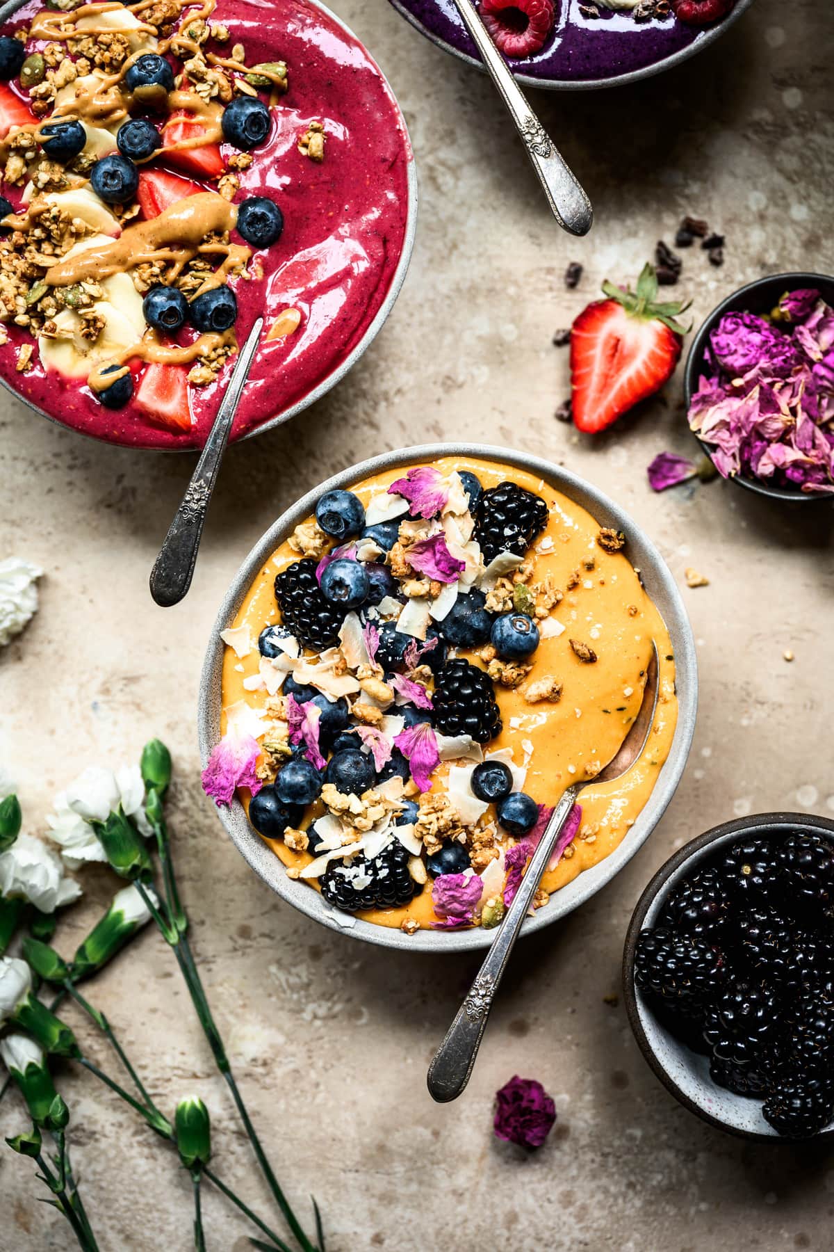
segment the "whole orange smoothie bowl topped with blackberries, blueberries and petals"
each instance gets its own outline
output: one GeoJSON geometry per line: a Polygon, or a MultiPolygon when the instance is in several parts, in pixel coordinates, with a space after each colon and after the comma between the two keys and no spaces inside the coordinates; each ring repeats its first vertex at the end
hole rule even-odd
{"type": "Polygon", "coordinates": [[[695,686],[674,583],[616,506],[509,449],[408,449],[311,492],[245,562],[206,659],[203,784],[304,911],[476,947],[570,784],[586,780],[525,926],[629,859],[683,771],[695,686]],[[595,784],[653,645],[651,732],[595,784]]]}

